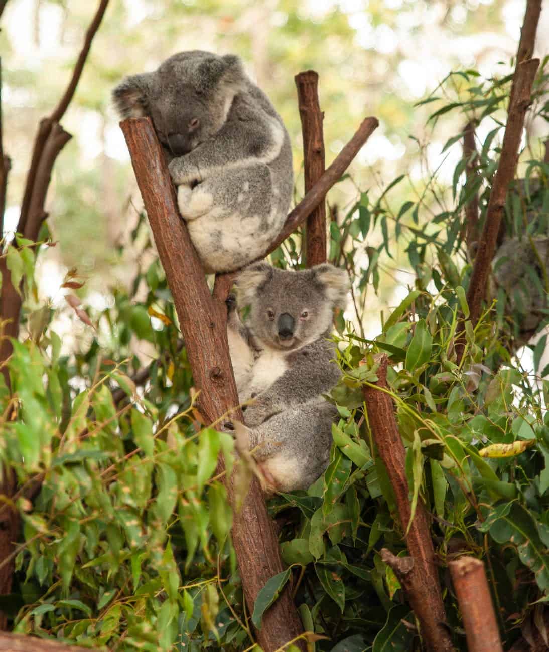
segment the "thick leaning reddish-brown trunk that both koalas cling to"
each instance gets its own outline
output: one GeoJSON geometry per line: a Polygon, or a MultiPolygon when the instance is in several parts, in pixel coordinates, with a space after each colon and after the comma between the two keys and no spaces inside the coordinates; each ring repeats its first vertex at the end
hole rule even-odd
{"type": "MultiPolygon", "coordinates": [[[[209,422],[227,412],[242,419],[240,409],[234,409],[239,401],[227,343],[227,308],[209,293],[200,260],[177,211],[175,190],[151,121],[129,119],[121,128],[173,295],[194,383],[200,389],[200,410],[209,422]]],[[[222,462],[218,470],[222,470],[222,462]]],[[[234,505],[231,483],[226,487],[234,505]]],[[[233,512],[232,539],[252,613],[260,589],[283,570],[273,524],[255,480],[241,511],[233,512]]],[[[258,642],[266,652],[273,652],[302,632],[291,594],[285,590],[265,613],[258,642]]]]}

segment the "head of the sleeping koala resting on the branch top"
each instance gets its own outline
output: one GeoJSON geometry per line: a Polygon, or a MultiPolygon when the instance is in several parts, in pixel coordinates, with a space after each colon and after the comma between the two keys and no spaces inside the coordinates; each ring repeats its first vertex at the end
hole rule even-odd
{"type": "Polygon", "coordinates": [[[183,156],[215,136],[246,82],[238,57],[191,50],[155,72],[126,77],[113,100],[122,119],[150,117],[162,145],[183,156]]]}

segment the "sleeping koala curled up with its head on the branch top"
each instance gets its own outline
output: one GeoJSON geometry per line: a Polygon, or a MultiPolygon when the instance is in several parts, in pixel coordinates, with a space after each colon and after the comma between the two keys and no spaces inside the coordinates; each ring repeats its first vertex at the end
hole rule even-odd
{"type": "Polygon", "coordinates": [[[166,152],[179,211],[207,273],[267,252],[293,188],[288,132],[235,55],[192,50],[113,91],[123,119],[149,116],[166,152]]]}

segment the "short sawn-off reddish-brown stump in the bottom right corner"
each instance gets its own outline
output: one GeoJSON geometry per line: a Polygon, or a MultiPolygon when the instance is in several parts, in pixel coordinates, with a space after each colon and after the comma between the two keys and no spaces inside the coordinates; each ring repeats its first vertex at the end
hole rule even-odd
{"type": "Polygon", "coordinates": [[[463,616],[469,652],[503,652],[484,564],[475,557],[448,562],[463,616]]]}

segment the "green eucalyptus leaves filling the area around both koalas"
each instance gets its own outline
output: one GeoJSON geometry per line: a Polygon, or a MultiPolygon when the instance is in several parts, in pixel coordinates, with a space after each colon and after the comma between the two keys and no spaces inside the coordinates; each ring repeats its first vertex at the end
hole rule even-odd
{"type": "MultiPolygon", "coordinates": [[[[22,281],[22,332],[29,333],[13,343],[8,362],[13,394],[0,387],[0,461],[16,473],[22,519],[12,595],[0,606],[16,631],[108,649],[237,652],[252,649],[252,624],[261,627],[288,584],[310,649],[421,649],[406,597],[379,555],[383,547],[406,554],[363,402],[363,387],[378,379],[379,352],[390,358],[409,499],[412,509],[423,501],[432,514],[439,564],[456,551],[485,562],[506,647],[522,626],[535,625],[533,605],[549,588],[549,381],[514,357],[520,321],[505,296],[488,303],[474,327],[466,301],[464,207],[478,192],[482,223],[509,82],[467,70],[437,91],[444,104],[432,105],[434,128],[458,112],[492,126],[478,143],[474,179],[460,161],[446,187],[432,175],[414,196],[411,179],[398,175],[378,196],[360,192],[331,222],[329,257],[353,280],[352,310],[336,318],[342,379],[331,396],[339,419],[323,477],[307,492],[269,502],[288,569],[267,582],[252,614],[216,475],[218,454],[232,472],[233,441],[200,429],[177,316],[143,216],[131,234],[136,274],[127,291],[111,289],[102,308],[87,304],[76,271],[62,287],[83,298],[44,303],[35,280],[42,250],[23,241],[5,250],[12,279],[22,281]],[[397,189],[409,196],[394,207],[397,189]],[[391,260],[411,270],[406,295],[387,294],[381,283],[391,260]],[[372,301],[383,309],[377,333],[366,323],[372,301]],[[76,339],[57,333],[67,319],[76,339]]],[[[541,117],[546,82],[543,68],[533,105],[541,117]]],[[[451,136],[445,150],[461,138],[451,136]]],[[[536,150],[520,170],[506,228],[544,233],[548,166],[536,150]]],[[[273,261],[303,265],[299,233],[273,261]]],[[[545,339],[531,346],[537,371],[545,339]]],[[[456,648],[466,649],[447,577],[440,573],[448,623],[456,648]]]]}

